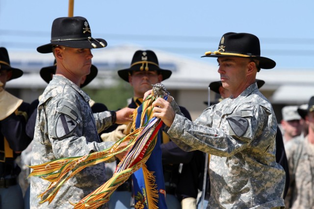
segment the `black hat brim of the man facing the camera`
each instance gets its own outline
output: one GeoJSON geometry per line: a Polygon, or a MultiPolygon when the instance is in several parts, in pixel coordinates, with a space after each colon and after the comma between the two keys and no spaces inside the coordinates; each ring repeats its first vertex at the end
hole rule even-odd
{"type": "MultiPolygon", "coordinates": [[[[123,80],[129,82],[129,72],[132,71],[141,71],[138,67],[139,65],[134,65],[131,68],[127,68],[127,69],[123,69],[123,70],[118,70],[118,75],[120,76],[120,78],[122,78],[123,80]]],[[[149,67],[149,71],[153,71],[156,70],[158,73],[160,73],[162,75],[162,80],[166,80],[168,79],[171,74],[172,71],[171,70],[165,70],[165,69],[161,69],[155,65],[151,65],[148,64],[149,67]]]]}

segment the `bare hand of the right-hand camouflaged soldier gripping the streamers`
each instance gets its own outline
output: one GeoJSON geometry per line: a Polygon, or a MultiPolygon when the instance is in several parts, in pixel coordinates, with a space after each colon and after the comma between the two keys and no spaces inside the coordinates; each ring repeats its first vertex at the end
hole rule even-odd
{"type": "Polygon", "coordinates": [[[170,103],[159,97],[153,102],[153,106],[153,117],[160,118],[166,126],[170,127],[176,116],[170,103]]]}

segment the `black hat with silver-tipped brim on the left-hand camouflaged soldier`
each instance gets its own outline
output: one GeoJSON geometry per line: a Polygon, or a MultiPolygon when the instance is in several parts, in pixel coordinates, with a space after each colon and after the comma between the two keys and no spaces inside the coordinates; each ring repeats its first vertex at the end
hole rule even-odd
{"type": "Polygon", "coordinates": [[[83,17],[57,18],[52,23],[51,43],[37,47],[40,53],[52,52],[52,46],[72,48],[101,48],[107,46],[104,39],[92,38],[87,20],[83,17]]]}

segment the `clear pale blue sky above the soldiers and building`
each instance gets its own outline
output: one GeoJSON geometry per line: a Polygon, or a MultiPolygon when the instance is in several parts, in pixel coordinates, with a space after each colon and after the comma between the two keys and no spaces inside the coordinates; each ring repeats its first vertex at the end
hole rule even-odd
{"type": "MultiPolygon", "coordinates": [[[[68,5],[0,0],[0,46],[10,52],[50,43],[52,22],[68,16],[68,5]]],[[[75,0],[74,16],[85,17],[108,47],[135,44],[215,63],[200,57],[224,33],[247,32],[277,68],[314,69],[314,0],[75,0]]]]}

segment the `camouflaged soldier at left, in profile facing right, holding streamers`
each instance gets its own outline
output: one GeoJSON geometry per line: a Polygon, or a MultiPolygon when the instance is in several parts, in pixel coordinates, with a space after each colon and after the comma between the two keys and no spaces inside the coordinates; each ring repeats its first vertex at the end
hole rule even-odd
{"type": "MultiPolygon", "coordinates": [[[[79,88],[81,78],[90,73],[91,48],[105,46],[105,40],[91,38],[85,18],[57,18],[53,21],[51,43],[37,48],[40,53],[53,52],[57,68],[38,105],[32,165],[106,149],[114,142],[101,142],[98,132],[114,122],[131,121],[129,116],[133,109],[130,108],[93,115],[88,104],[89,96],[79,88]]],[[[122,156],[117,155],[118,158],[122,156]]],[[[104,163],[86,167],[67,181],[48,205],[47,202],[39,204],[37,197],[45,191],[49,182],[31,177],[30,208],[73,208],[70,202],[78,203],[105,181],[104,163]]]]}

